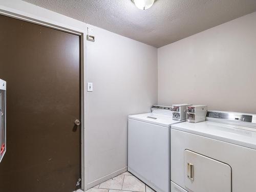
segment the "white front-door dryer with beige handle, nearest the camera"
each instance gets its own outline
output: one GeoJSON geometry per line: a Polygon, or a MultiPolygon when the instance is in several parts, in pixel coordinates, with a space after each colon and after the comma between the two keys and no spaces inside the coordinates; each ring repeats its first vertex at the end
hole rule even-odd
{"type": "Polygon", "coordinates": [[[208,111],[171,130],[172,192],[256,191],[256,115],[208,111]]]}

